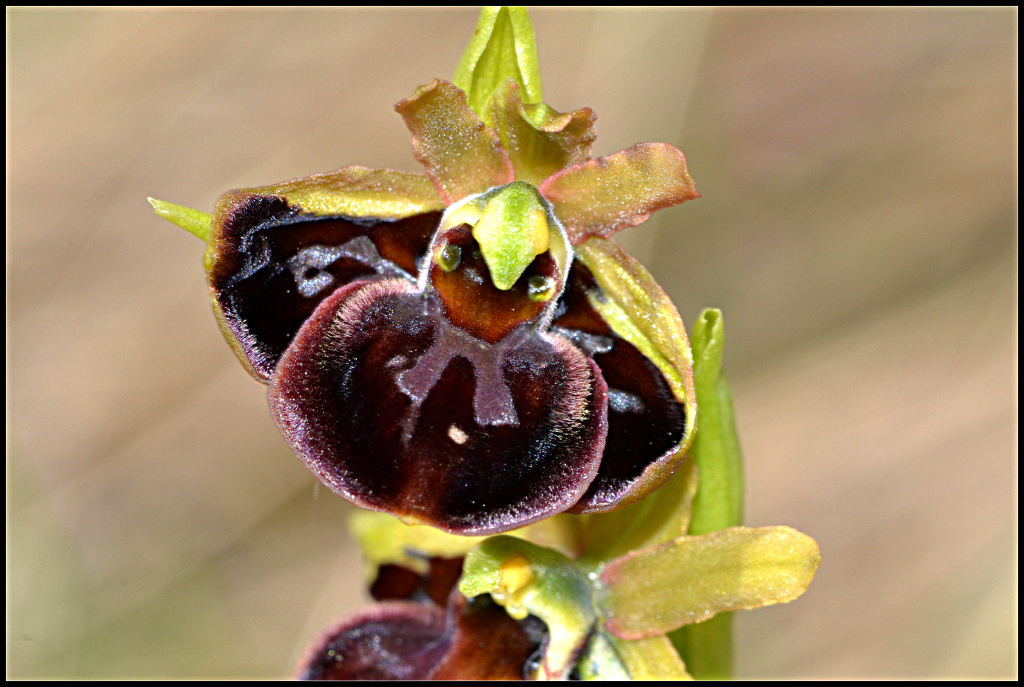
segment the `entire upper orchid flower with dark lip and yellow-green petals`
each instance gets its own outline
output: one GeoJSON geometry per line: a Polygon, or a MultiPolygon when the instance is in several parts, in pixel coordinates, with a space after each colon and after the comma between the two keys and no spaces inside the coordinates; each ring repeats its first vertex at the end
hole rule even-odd
{"type": "Polygon", "coordinates": [[[688,343],[603,237],[696,197],[682,154],[590,160],[593,113],[514,82],[494,128],[443,81],[397,110],[427,175],[349,167],[213,215],[214,309],[286,438],[353,503],[461,534],[656,488],[693,435],[688,343]]]}

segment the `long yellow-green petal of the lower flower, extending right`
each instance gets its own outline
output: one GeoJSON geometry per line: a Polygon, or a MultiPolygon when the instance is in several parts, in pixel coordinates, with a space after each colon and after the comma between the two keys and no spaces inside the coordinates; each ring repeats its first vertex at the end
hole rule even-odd
{"type": "Polygon", "coordinates": [[[790,527],[682,536],[609,563],[598,607],[616,637],[651,637],[723,611],[793,601],[820,561],[814,540],[790,527]]]}

